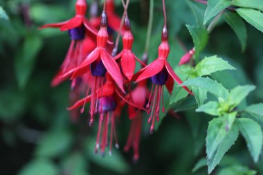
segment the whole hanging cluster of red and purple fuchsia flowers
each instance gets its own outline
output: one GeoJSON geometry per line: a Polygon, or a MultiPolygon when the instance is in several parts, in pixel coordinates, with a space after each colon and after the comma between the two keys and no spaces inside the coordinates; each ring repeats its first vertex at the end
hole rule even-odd
{"type": "MultiPolygon", "coordinates": [[[[146,66],[147,63],[141,62],[132,51],[134,37],[127,14],[124,18],[124,28],[120,27],[121,19],[115,14],[114,0],[105,2],[101,17],[92,15],[89,20],[85,17],[87,12],[85,0],[77,0],[75,10],[75,17],[69,21],[41,27],[60,28],[62,31],[68,31],[71,38],[68,53],[51,84],[57,86],[70,78],[73,104],[69,110],[73,111],[73,118],[78,118],[79,115],[75,109],[81,107],[80,112],[83,113],[87,103],[90,103],[89,125],[93,125],[94,115],[99,114],[95,151],[98,152],[100,149],[101,154],[105,154],[107,145],[111,154],[113,140],[118,147],[115,120],[120,117],[122,108],[127,104],[129,119],[132,122],[125,151],[133,147],[134,160],[138,160],[143,111],[150,113],[148,122],[152,122],[150,126],[152,133],[155,120],[159,120],[160,108],[163,113],[165,112],[163,86],[172,93],[174,81],[182,83],[167,62],[170,47],[166,24],[158,47],[158,58],[146,66]],[[112,56],[114,50],[111,42],[112,33],[119,28],[123,37],[123,50],[118,55],[112,56]],[[134,74],[136,61],[141,64],[141,70],[134,74]],[[147,79],[152,80],[150,91],[147,88],[147,79]],[[138,84],[132,88],[131,82],[138,84]],[[78,100],[84,91],[86,95],[78,100]]],[[[192,93],[186,86],[183,88],[192,93]]]]}

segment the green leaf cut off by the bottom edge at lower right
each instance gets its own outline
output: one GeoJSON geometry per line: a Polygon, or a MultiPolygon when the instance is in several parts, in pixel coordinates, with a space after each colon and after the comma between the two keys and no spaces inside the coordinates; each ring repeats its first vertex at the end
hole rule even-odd
{"type": "Polygon", "coordinates": [[[221,171],[217,175],[255,175],[257,172],[255,170],[251,170],[248,167],[244,167],[243,165],[233,165],[230,167],[225,167],[221,169],[221,171]]]}

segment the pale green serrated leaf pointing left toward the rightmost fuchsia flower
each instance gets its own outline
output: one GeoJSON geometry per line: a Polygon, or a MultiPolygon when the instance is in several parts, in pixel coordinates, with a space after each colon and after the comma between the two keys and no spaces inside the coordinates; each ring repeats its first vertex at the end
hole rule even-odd
{"type": "Polygon", "coordinates": [[[197,77],[186,80],[183,82],[184,86],[197,86],[201,89],[204,89],[218,98],[226,98],[228,96],[228,90],[215,80],[211,80],[208,77],[197,77]]]}

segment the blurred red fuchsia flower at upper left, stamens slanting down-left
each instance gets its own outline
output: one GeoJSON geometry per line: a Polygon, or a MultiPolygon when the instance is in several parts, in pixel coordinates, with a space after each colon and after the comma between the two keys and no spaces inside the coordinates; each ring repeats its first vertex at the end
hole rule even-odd
{"type": "Polygon", "coordinates": [[[42,28],[60,28],[60,30],[69,31],[71,37],[71,45],[68,53],[58,71],[53,78],[51,85],[57,86],[66,78],[68,78],[72,69],[79,66],[84,57],[95,48],[95,39],[98,31],[94,28],[85,17],[87,12],[87,2],[85,0],[78,0],[75,3],[76,15],[68,21],[63,21],[57,24],[46,24],[42,28]]]}

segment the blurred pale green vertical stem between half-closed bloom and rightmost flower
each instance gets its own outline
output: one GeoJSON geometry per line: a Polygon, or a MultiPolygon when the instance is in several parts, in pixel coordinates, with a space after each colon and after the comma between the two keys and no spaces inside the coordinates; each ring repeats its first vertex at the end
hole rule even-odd
{"type": "Polygon", "coordinates": [[[148,22],[148,27],[147,27],[145,50],[143,54],[143,62],[145,64],[147,64],[147,58],[148,58],[148,53],[149,53],[149,43],[151,42],[153,18],[154,18],[154,0],[149,0],[149,22],[148,22]]]}

